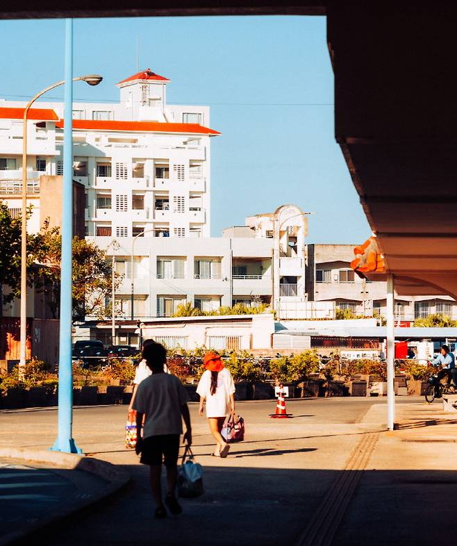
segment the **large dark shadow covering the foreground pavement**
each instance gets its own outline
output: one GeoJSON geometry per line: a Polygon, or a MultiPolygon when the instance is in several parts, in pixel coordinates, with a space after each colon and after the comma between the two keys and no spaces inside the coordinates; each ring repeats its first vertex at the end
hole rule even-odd
{"type": "MultiPolygon", "coordinates": [[[[350,483],[357,478],[357,471],[353,470],[230,468],[219,462],[204,468],[204,495],[181,500],[181,516],[169,515],[165,520],[155,520],[147,467],[124,465],[133,477],[131,486],[12,544],[311,546],[315,542],[301,543],[299,539],[308,525],[319,520],[319,514],[322,516],[319,510],[325,504],[326,495],[336,489],[342,479],[350,483]]],[[[1,483],[10,480],[3,499],[3,488],[0,489],[3,520],[8,522],[11,515],[8,529],[26,527],[33,518],[40,518],[43,513],[58,514],[60,510],[59,499],[63,495],[44,502],[35,499],[33,488],[29,488],[26,497],[21,496],[15,483],[32,481],[26,474],[24,470],[17,470],[15,475],[14,469],[8,469],[1,479],[1,483]]],[[[354,496],[348,493],[344,499],[348,505],[337,503],[327,518],[321,518],[326,531],[340,509],[342,520],[329,544],[430,546],[431,543],[455,543],[454,506],[452,502],[443,503],[442,499],[443,495],[452,495],[457,483],[456,471],[365,470],[359,478],[354,496]],[[441,523],[435,526],[431,525],[430,511],[437,508],[441,523]]],[[[55,488],[52,484],[43,486],[40,495],[47,495],[51,487],[55,488]]],[[[65,502],[71,503],[74,492],[64,493],[65,502]]],[[[0,540],[8,529],[4,525],[0,527],[0,540]]]]}

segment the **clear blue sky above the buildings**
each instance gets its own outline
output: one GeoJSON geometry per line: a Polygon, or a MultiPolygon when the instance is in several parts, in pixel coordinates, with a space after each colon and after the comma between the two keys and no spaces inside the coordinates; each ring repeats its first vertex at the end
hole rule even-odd
{"type": "MultiPolygon", "coordinates": [[[[74,74],[104,79],[75,85],[75,98],[117,101],[138,36],[140,69],[172,80],[170,103],[210,105],[222,132],[212,140],[213,235],[294,203],[317,213],[309,242],[359,243],[370,230],[333,136],[325,27],[324,17],[76,19],[74,74]]],[[[63,43],[63,20],[0,21],[0,98],[63,78],[63,43]]]]}

